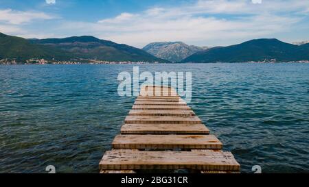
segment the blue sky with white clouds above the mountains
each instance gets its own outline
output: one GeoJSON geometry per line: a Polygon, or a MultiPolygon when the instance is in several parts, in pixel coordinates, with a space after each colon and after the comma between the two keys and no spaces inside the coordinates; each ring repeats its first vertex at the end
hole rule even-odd
{"type": "Polygon", "coordinates": [[[23,38],[95,36],[144,47],[227,46],[255,38],[309,40],[309,0],[1,0],[0,32],[23,38]]]}

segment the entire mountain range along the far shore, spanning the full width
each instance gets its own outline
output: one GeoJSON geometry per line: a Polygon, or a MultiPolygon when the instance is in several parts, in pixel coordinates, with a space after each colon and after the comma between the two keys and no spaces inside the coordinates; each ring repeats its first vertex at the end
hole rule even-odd
{"type": "Polygon", "coordinates": [[[293,45],[277,39],[255,39],[238,45],[209,49],[186,45],[183,42],[155,42],[143,49],[93,36],[25,39],[0,33],[0,63],[7,60],[30,63],[30,59],[45,59],[51,62],[94,60],[183,63],[309,61],[309,43],[293,45]]]}

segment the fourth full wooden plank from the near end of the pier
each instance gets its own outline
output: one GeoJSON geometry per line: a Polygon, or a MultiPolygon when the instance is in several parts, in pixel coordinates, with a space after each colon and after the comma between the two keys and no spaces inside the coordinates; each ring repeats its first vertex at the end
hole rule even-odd
{"type": "Polygon", "coordinates": [[[198,116],[126,116],[124,123],[202,124],[198,116]]]}

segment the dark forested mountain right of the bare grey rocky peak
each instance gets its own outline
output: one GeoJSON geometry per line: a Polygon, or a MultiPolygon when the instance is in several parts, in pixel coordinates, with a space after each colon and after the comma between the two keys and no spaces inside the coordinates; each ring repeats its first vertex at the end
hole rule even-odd
{"type": "Polygon", "coordinates": [[[182,62],[288,62],[309,60],[308,45],[292,45],[277,39],[258,39],[228,47],[197,52],[182,62]]]}

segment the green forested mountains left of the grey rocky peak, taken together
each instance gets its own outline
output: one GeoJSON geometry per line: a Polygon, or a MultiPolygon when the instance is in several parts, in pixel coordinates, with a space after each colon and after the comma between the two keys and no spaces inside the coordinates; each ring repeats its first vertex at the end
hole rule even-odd
{"type": "Polygon", "coordinates": [[[100,40],[93,36],[25,39],[0,33],[0,59],[24,62],[31,58],[45,60],[102,60],[109,62],[168,62],[124,44],[100,40]]]}

